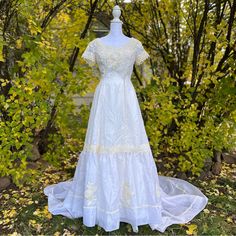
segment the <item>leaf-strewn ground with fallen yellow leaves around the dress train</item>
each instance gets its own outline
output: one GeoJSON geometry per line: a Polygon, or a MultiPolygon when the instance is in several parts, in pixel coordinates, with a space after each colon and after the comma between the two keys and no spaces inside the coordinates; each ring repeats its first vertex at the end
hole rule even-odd
{"type": "MultiPolygon", "coordinates": [[[[76,158],[64,162],[60,168],[41,163],[42,174],[37,182],[23,188],[11,186],[0,194],[0,235],[134,235],[131,225],[121,222],[120,229],[106,232],[101,227],[86,227],[82,218],[67,219],[53,216],[47,209],[43,188],[48,184],[73,177],[76,158]],[[73,163],[73,164],[72,164],[73,163]]],[[[162,234],[149,225],[139,226],[140,235],[236,235],[236,165],[223,163],[220,175],[188,181],[209,198],[207,207],[191,222],[171,225],[162,234]]],[[[173,176],[173,172],[159,172],[173,176]]]]}

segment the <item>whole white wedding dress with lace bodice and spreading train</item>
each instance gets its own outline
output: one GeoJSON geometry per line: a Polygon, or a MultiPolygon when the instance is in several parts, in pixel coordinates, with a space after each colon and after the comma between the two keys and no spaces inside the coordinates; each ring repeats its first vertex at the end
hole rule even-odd
{"type": "Polygon", "coordinates": [[[149,57],[142,43],[130,38],[116,47],[96,38],[82,57],[98,66],[100,81],[74,177],[44,189],[49,211],[83,217],[84,225],[105,231],[119,229],[120,222],[134,232],[145,224],[164,232],[171,224],[189,222],[208,198],[185,180],[158,176],[130,80],[134,63],[149,57]]]}

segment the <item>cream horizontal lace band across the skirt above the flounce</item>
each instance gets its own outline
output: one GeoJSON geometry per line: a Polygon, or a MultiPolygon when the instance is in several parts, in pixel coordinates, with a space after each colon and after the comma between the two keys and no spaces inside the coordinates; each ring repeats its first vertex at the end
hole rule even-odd
{"type": "Polygon", "coordinates": [[[83,151],[95,153],[124,153],[124,152],[150,152],[149,143],[141,144],[139,146],[120,145],[120,146],[101,146],[101,145],[84,145],[83,151]]]}

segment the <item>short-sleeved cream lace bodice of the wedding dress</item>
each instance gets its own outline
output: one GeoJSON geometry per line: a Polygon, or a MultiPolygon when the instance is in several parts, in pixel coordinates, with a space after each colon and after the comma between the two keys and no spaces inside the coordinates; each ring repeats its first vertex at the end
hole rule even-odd
{"type": "Polygon", "coordinates": [[[97,65],[102,78],[118,76],[130,78],[133,65],[140,65],[149,57],[142,43],[135,38],[121,46],[105,45],[100,38],[87,45],[82,58],[90,65],[97,65]]]}

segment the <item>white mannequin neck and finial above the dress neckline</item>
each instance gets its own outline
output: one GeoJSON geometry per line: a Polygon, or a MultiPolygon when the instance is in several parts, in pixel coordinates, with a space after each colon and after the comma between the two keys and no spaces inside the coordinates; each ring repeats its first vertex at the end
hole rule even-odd
{"type": "Polygon", "coordinates": [[[122,46],[130,38],[124,35],[124,33],[122,32],[123,22],[120,20],[121,10],[118,5],[113,8],[112,15],[114,18],[110,23],[110,31],[106,36],[100,39],[106,45],[122,46]]]}

